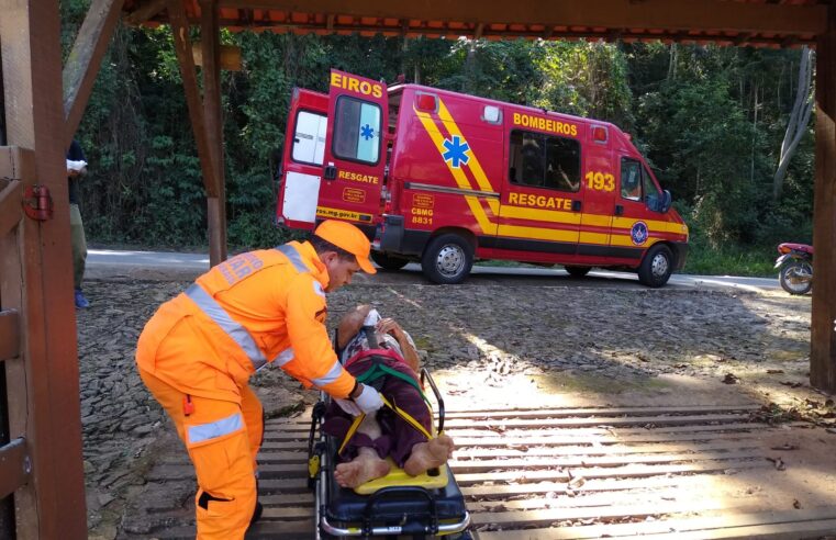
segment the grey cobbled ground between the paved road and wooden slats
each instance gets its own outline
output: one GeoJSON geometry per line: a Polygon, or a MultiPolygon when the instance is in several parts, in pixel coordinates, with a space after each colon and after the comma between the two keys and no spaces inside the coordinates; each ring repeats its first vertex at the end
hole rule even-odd
{"type": "MultiPolygon", "coordinates": [[[[143,491],[144,472],[160,449],[176,449],[133,353],[156,307],[187,284],[125,280],[86,286],[92,306],[78,312],[78,336],[91,538],[116,538],[131,528],[131,503],[143,491]]],[[[791,410],[833,423],[833,402],[807,381],[809,296],[364,284],[330,296],[330,322],[359,303],[394,316],[412,334],[452,408],[756,400],[779,404],[779,415],[791,410]]],[[[253,383],[269,416],[315,397],[279,370],[265,371],[253,383]]]]}

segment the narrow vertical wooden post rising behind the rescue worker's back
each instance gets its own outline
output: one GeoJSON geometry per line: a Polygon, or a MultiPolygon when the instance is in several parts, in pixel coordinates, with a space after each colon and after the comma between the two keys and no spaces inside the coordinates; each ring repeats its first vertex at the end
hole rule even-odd
{"type": "Polygon", "coordinates": [[[221,111],[221,46],[218,1],[200,1],[200,45],[203,64],[203,119],[214,169],[215,196],[207,199],[209,263],[226,260],[226,190],[224,185],[223,111],[221,111]]]}

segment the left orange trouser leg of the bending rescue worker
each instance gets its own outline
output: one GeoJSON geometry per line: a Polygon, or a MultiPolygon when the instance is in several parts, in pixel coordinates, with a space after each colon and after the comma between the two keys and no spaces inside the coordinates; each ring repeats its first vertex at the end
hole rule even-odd
{"type": "Polygon", "coordinates": [[[242,407],[233,402],[191,396],[194,412],[186,417],[182,410],[182,392],[143,370],[140,370],[140,375],[175,423],[194,465],[199,486],[194,497],[197,538],[243,539],[255,509],[256,482],[242,407]],[[232,432],[221,434],[224,427],[235,425],[234,420],[230,420],[235,415],[242,417],[241,427],[232,432]],[[210,437],[197,443],[189,443],[191,428],[216,423],[220,424],[209,429],[192,430],[191,432],[198,434],[198,438],[208,434],[210,437]]]}

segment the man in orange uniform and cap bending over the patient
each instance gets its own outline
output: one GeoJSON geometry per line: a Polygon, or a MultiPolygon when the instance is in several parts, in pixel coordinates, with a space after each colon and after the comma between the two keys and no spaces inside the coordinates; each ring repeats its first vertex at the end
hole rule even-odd
{"type": "Polygon", "coordinates": [[[238,255],[163,304],[136,348],[140,375],[177,427],[198,476],[199,539],[241,539],[258,519],[261,404],[249,376],[278,364],[352,414],[382,405],[343,369],[328,340],[325,292],[364,270],[369,241],[326,221],[309,241],[238,255]]]}

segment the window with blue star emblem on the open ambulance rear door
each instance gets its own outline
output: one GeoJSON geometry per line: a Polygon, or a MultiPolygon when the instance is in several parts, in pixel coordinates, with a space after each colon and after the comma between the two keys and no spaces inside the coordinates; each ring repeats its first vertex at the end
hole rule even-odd
{"type": "Polygon", "coordinates": [[[380,108],[348,95],[337,98],[334,113],[334,156],[375,165],[380,157],[380,108]]]}

